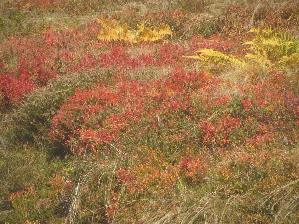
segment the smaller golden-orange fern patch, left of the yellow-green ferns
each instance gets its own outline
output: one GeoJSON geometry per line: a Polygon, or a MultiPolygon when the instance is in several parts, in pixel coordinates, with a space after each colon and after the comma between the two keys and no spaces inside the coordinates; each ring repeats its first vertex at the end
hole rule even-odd
{"type": "Polygon", "coordinates": [[[133,29],[126,24],[120,25],[116,20],[105,18],[97,19],[102,26],[101,33],[97,38],[107,42],[142,42],[163,40],[166,35],[172,36],[170,27],[164,23],[159,27],[147,27],[145,22],[138,24],[137,29],[133,29]]]}

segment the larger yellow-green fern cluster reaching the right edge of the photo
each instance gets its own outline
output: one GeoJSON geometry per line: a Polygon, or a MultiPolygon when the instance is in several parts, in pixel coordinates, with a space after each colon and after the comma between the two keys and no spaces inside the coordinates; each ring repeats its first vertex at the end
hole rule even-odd
{"type": "Polygon", "coordinates": [[[243,43],[243,45],[249,45],[245,49],[249,53],[245,55],[244,59],[206,48],[196,51],[196,55],[185,57],[200,60],[204,65],[212,63],[219,66],[237,66],[240,68],[253,65],[283,68],[299,64],[299,40],[291,37],[289,32],[282,33],[271,27],[253,28],[249,32],[254,33],[255,37],[253,40],[243,43]]]}

